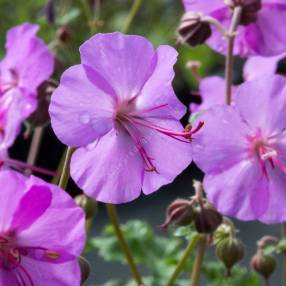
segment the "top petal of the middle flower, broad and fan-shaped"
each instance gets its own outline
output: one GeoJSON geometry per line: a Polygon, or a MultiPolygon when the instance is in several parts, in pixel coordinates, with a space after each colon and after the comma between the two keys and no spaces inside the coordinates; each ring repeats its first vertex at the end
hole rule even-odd
{"type": "Polygon", "coordinates": [[[110,85],[113,96],[121,99],[138,95],[156,60],[146,39],[118,32],[96,34],[80,47],[80,54],[89,79],[98,87],[110,85]]]}

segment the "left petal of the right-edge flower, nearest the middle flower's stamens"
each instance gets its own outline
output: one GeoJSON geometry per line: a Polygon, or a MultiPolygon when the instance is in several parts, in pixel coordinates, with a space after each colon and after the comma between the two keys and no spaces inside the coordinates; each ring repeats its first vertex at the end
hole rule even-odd
{"type": "Polygon", "coordinates": [[[222,105],[203,113],[204,127],[194,136],[193,157],[207,174],[217,174],[245,159],[250,129],[234,108],[222,105]]]}

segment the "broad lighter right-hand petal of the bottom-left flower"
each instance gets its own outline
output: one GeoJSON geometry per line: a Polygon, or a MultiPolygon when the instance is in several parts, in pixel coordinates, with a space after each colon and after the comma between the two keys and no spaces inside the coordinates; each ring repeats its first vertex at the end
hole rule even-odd
{"type": "Polygon", "coordinates": [[[30,177],[27,188],[33,185],[48,186],[52,192],[52,203],[43,215],[18,237],[22,247],[65,248],[74,256],[79,256],[84,247],[84,213],[77,208],[70,196],[59,187],[43,183],[36,177],[30,177]],[[49,234],[49,235],[46,235],[49,234]],[[51,239],[52,238],[52,239],[51,239]]]}

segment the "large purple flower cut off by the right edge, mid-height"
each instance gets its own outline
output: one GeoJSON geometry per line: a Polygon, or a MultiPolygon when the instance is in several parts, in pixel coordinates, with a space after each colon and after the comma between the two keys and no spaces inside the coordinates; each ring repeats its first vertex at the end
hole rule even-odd
{"type": "Polygon", "coordinates": [[[208,199],[225,215],[266,223],[286,221],[286,79],[242,84],[234,107],[201,116],[193,156],[206,173],[208,199]]]}

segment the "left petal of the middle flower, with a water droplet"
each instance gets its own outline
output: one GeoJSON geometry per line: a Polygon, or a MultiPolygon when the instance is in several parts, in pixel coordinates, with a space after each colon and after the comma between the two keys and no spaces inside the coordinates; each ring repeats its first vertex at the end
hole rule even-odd
{"type": "Polygon", "coordinates": [[[49,112],[59,139],[69,146],[93,142],[113,128],[114,100],[91,83],[81,65],[64,72],[49,112]]]}

